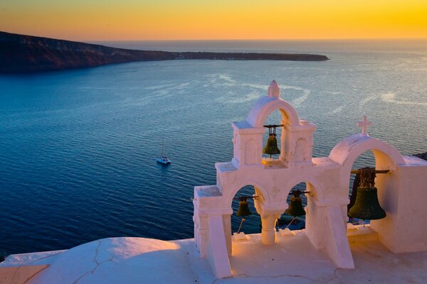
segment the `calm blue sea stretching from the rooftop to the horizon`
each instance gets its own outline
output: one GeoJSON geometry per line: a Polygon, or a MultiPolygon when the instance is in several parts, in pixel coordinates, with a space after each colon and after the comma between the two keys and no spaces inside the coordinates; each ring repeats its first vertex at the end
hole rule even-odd
{"type": "MultiPolygon", "coordinates": [[[[426,39],[102,44],[330,60],[169,60],[0,76],[0,254],[114,236],[192,238],[194,186],[216,184],[214,163],[233,156],[231,122],[246,119],[272,80],[317,125],[315,157],[359,133],[363,115],[369,135],[402,154],[427,151],[426,39]],[[156,163],[162,143],[167,166],[156,163]]],[[[279,122],[278,113],[268,117],[279,122]]],[[[366,165],[374,165],[370,152],[354,168],[366,165]]],[[[244,187],[236,196],[252,193],[244,187]]],[[[258,233],[253,202],[250,209],[242,231],[258,233]]],[[[240,222],[232,216],[233,231],[240,222]]]]}

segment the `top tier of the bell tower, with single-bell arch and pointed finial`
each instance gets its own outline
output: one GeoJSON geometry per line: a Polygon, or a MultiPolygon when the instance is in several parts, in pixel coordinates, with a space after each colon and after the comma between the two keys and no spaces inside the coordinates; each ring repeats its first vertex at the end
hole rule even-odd
{"type": "Polygon", "coordinates": [[[295,109],[280,98],[280,89],[273,80],[268,87],[268,95],[261,98],[249,112],[245,121],[233,122],[233,165],[236,168],[259,166],[266,163],[275,167],[288,168],[292,165],[311,165],[313,133],[316,126],[300,120],[295,109]],[[277,161],[262,160],[263,124],[267,116],[279,110],[283,125],[280,137],[280,158],[277,161]]]}

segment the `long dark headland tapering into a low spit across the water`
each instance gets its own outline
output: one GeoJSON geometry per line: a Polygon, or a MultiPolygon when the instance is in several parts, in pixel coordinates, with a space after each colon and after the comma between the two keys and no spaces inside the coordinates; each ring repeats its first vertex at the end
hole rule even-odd
{"type": "Polygon", "coordinates": [[[325,55],[129,50],[0,31],[0,73],[31,73],[153,60],[328,60],[325,55]]]}

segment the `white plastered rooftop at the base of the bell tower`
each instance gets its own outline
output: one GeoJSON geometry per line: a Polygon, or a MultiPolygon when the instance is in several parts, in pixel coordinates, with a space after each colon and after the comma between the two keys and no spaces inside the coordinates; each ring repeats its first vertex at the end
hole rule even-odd
{"type": "MultiPolygon", "coordinates": [[[[224,279],[215,278],[206,258],[199,257],[193,239],[102,239],[51,256],[9,256],[0,266],[19,269],[43,258],[49,266],[27,279],[28,284],[427,283],[427,252],[392,253],[369,227],[359,226],[359,233],[350,234],[354,234],[349,236],[354,270],[335,268],[327,253],[312,247],[304,230],[295,236],[278,234],[278,242],[272,246],[261,244],[260,234],[233,241],[233,277],[224,279]]],[[[9,281],[0,278],[0,283],[9,281]]]]}

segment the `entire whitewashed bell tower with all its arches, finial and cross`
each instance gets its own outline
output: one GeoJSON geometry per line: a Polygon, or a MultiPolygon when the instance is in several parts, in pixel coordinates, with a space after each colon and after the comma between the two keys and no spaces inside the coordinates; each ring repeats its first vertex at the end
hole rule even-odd
{"type": "Polygon", "coordinates": [[[427,250],[427,224],[420,226],[407,218],[427,214],[427,162],[402,156],[389,144],[371,138],[366,131],[371,123],[366,118],[359,125],[362,133],[344,138],[328,157],[312,158],[316,126],[299,119],[295,109],[281,99],[275,81],[246,120],[233,122],[233,160],[215,164],[216,185],[194,187],[194,243],[217,278],[232,276],[231,202],[246,185],[255,188],[261,241],[275,245],[275,221],[288,209],[292,187],[305,182],[309,193],[304,234],[314,249],[330,255],[337,268],[354,268],[347,239],[349,177],[354,160],[365,151],[374,153],[376,169],[387,170],[375,180],[387,217],[373,220],[371,229],[391,251],[427,250]],[[280,111],[283,127],[280,157],[263,159],[263,125],[276,110],[280,111]]]}

